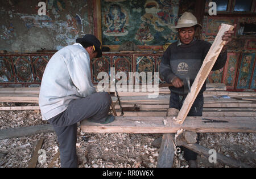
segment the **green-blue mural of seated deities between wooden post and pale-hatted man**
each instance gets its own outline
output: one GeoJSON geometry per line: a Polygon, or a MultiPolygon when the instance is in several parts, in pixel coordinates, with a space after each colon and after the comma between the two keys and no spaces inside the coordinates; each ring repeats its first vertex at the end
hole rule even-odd
{"type": "Polygon", "coordinates": [[[176,41],[171,30],[177,20],[179,0],[101,1],[103,45],[164,45],[176,41]]]}

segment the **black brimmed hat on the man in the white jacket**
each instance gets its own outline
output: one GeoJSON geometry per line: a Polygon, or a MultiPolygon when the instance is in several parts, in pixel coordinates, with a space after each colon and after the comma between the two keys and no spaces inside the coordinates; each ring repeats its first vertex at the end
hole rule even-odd
{"type": "Polygon", "coordinates": [[[77,42],[77,43],[86,42],[86,43],[89,43],[89,44],[94,45],[95,50],[97,51],[97,56],[96,56],[96,58],[102,56],[102,52],[101,52],[101,42],[100,42],[100,40],[97,39],[96,36],[94,36],[94,35],[92,35],[92,34],[86,34],[84,37],[79,38],[79,39],[76,39],[76,42],[77,42]]]}

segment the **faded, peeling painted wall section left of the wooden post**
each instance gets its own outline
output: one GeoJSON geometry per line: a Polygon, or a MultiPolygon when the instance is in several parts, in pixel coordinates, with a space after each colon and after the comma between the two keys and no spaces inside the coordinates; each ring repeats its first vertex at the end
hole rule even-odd
{"type": "MultiPolygon", "coordinates": [[[[43,0],[42,0],[43,1],[43,0]]],[[[46,15],[38,15],[38,3],[0,0],[0,49],[35,52],[70,45],[77,37],[93,33],[93,0],[47,0],[46,15]]]]}

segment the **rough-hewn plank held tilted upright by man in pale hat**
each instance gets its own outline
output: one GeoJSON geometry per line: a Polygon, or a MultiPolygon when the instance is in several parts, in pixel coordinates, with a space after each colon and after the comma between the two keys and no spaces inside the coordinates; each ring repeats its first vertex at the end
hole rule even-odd
{"type": "Polygon", "coordinates": [[[205,80],[207,79],[214,63],[225,45],[225,41],[222,40],[222,36],[226,31],[231,31],[233,28],[233,25],[221,24],[220,31],[217,33],[217,36],[204,59],[203,65],[201,66],[199,73],[196,75],[196,78],[192,84],[191,92],[188,93],[186,99],[184,100],[183,106],[180,109],[179,115],[177,116],[179,123],[183,123],[187,117],[193,102],[196,100],[198,93],[203,87],[205,80]]]}

